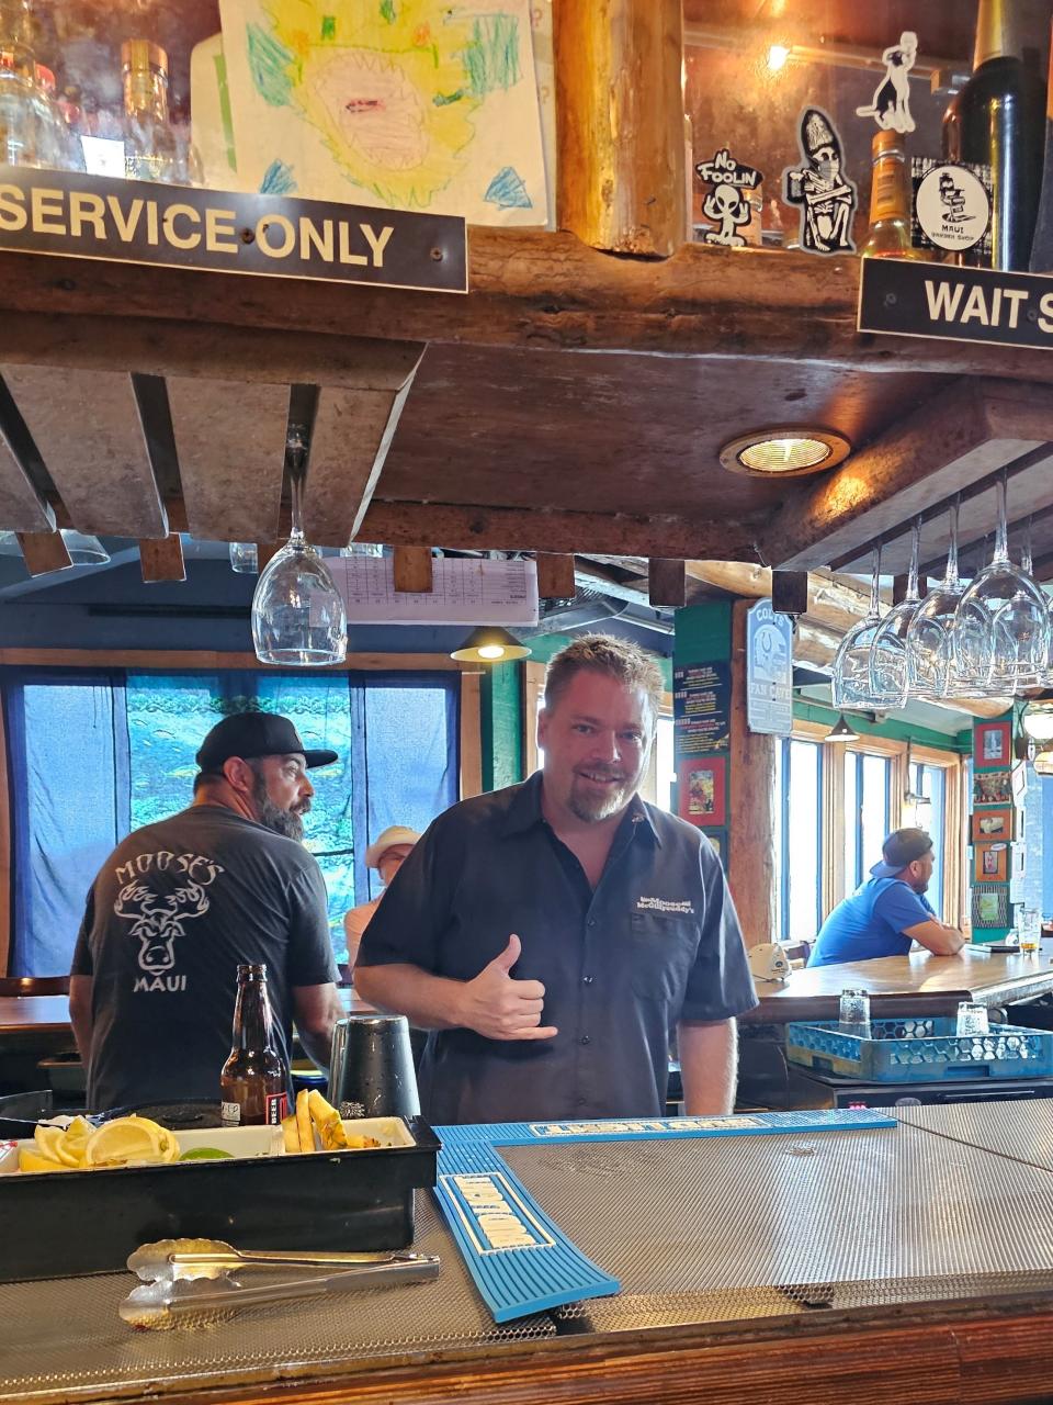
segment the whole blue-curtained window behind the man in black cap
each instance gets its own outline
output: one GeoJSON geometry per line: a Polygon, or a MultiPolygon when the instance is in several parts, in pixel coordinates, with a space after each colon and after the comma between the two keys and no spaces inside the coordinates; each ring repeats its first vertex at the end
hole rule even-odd
{"type": "Polygon", "coordinates": [[[423,830],[458,798],[459,674],[8,670],[4,708],[14,975],[69,971],[100,865],[129,830],[191,804],[194,756],[232,712],[284,712],[307,747],[337,753],[312,771],[305,842],[341,961],[344,913],[379,892],[369,840],[392,823],[423,830]]]}

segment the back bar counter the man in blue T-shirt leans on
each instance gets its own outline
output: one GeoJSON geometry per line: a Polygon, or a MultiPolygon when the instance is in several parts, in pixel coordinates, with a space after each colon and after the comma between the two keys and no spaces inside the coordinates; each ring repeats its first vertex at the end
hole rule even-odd
{"type": "Polygon", "coordinates": [[[746,1023],[785,1024],[790,1020],[835,1020],[841,991],[852,986],[870,993],[870,1013],[955,1014],[959,1000],[1009,1005],[1053,991],[1053,943],[1035,955],[963,947],[958,955],[911,951],[906,957],[847,961],[792,971],[785,985],[757,982],[760,1005],[746,1023]]]}

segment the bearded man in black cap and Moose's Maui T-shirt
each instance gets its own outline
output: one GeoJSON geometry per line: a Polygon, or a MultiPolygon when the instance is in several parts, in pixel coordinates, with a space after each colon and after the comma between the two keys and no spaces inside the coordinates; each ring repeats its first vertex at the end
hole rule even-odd
{"type": "Polygon", "coordinates": [[[329,1064],[343,1010],[326,884],[300,839],[307,771],[336,760],[285,717],[226,717],[197,753],[192,804],[102,864],[70,975],[90,1109],[218,1103],[241,964],[267,965],[286,1066],[293,1017],[310,1057],[329,1064]]]}

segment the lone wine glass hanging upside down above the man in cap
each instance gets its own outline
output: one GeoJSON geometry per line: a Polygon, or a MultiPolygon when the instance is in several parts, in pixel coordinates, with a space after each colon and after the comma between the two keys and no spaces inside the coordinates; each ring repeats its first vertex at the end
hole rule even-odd
{"type": "Polygon", "coordinates": [[[336,582],[303,535],[306,444],[291,434],[292,532],[256,583],[253,643],[261,663],[317,667],[347,658],[347,611],[336,582]]]}

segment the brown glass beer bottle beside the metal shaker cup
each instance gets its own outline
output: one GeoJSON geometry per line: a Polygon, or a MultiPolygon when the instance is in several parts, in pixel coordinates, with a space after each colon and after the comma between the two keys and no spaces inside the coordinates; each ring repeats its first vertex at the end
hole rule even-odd
{"type": "Polygon", "coordinates": [[[233,1047],[219,1096],[225,1127],[277,1127],[288,1111],[288,1069],[274,1040],[265,965],[237,968],[233,1047]]]}

